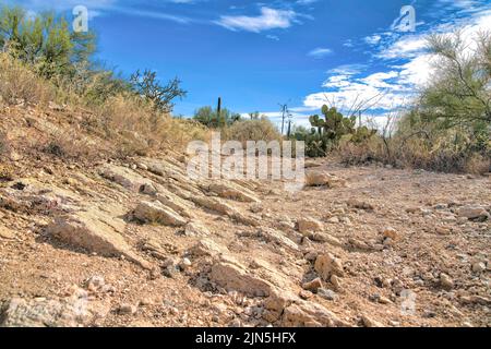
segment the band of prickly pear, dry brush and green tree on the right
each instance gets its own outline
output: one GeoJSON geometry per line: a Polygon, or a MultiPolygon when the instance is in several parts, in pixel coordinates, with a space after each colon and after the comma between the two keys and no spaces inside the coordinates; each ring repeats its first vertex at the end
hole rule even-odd
{"type": "Polygon", "coordinates": [[[386,116],[381,128],[357,124],[335,107],[312,116],[311,130],[294,133],[309,156],[334,153],[346,164],[379,161],[444,172],[489,172],[491,166],[491,36],[481,33],[465,46],[462,34],[433,35],[431,83],[409,106],[386,116]]]}

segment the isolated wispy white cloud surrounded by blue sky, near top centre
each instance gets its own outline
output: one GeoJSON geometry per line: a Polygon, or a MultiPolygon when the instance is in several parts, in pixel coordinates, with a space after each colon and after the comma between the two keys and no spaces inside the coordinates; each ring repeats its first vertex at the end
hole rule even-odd
{"type": "Polygon", "coordinates": [[[276,28],[288,28],[296,17],[297,13],[292,10],[276,10],[263,7],[261,8],[261,14],[258,16],[223,15],[215,23],[230,31],[260,33],[276,28]]]}

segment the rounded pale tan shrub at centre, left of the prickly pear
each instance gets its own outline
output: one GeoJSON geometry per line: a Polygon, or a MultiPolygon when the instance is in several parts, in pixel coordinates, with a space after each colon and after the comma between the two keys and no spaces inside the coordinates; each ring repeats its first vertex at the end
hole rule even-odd
{"type": "Polygon", "coordinates": [[[223,137],[227,141],[238,141],[243,146],[248,141],[283,141],[276,127],[266,118],[258,120],[242,120],[223,130],[223,137]]]}

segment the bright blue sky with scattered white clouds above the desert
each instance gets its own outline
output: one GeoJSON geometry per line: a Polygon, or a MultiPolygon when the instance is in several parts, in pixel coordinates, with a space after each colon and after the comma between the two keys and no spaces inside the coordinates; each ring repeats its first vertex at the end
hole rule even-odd
{"type": "MultiPolygon", "coordinates": [[[[0,0],[1,2],[1,0],[0,0]]],[[[175,113],[224,105],[275,121],[288,103],[297,123],[326,100],[371,100],[383,116],[410,101],[431,79],[424,37],[432,32],[491,31],[483,0],[17,0],[9,3],[71,16],[85,5],[99,38],[97,58],[124,75],[156,70],[179,76],[189,95],[175,113]],[[416,10],[416,31],[400,9],[416,10]]]]}

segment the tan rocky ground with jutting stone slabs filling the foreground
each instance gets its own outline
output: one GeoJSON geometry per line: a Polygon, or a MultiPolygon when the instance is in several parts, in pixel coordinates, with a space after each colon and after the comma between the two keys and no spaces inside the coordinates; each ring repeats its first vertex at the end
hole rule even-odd
{"type": "Polygon", "coordinates": [[[190,181],[179,154],[88,166],[19,144],[2,326],[491,325],[490,177],[309,160],[289,193],[190,181]]]}

